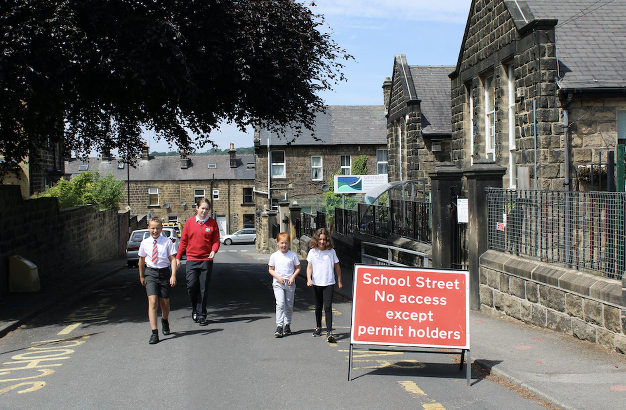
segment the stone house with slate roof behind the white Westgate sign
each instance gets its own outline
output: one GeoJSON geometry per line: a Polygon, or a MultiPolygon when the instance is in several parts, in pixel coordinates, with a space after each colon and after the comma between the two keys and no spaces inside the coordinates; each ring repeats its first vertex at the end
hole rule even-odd
{"type": "Polygon", "coordinates": [[[349,175],[352,161],[361,155],[367,156],[368,174],[386,174],[385,127],[382,106],[329,106],[326,114],[319,114],[316,119],[314,134],[319,141],[312,138],[310,131],[304,131],[289,143],[295,134],[287,132],[289,138],[279,137],[257,127],[257,209],[269,209],[284,199],[297,201],[303,212],[321,209],[324,185],[337,171],[349,175]]]}

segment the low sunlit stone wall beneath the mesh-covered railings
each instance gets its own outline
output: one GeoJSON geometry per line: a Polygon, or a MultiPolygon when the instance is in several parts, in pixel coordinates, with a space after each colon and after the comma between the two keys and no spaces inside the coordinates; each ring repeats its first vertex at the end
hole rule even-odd
{"type": "Polygon", "coordinates": [[[480,258],[480,302],[482,311],[626,354],[622,281],[487,251],[480,258]]]}

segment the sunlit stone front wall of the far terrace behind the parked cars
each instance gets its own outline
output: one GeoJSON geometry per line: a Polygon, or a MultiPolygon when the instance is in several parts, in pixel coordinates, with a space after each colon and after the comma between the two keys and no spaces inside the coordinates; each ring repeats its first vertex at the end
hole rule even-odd
{"type": "MultiPolygon", "coordinates": [[[[213,199],[213,211],[216,215],[226,216],[227,233],[237,231],[244,227],[244,215],[249,215],[254,221],[255,204],[250,202],[244,204],[244,187],[252,189],[253,182],[247,179],[237,179],[232,181],[213,181],[210,179],[196,181],[131,181],[130,183],[130,207],[131,212],[138,214],[148,214],[159,216],[168,221],[170,216],[178,217],[178,222],[185,224],[187,218],[195,215],[195,204],[193,203],[194,189],[204,189],[205,196],[211,199],[212,190],[219,191],[219,199],[213,199]],[[148,205],[148,188],[158,188],[158,206],[148,205]],[[185,201],[185,206],[180,202],[185,201]],[[168,204],[166,209],[164,204],[168,204]]],[[[122,187],[126,192],[126,182],[122,187]]],[[[127,196],[121,201],[123,208],[128,203],[127,196]]]]}

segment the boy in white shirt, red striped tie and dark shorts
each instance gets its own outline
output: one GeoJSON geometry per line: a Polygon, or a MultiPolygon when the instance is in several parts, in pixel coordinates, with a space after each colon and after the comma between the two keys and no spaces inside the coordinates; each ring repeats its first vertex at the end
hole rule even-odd
{"type": "Polygon", "coordinates": [[[152,334],[150,344],[158,343],[156,316],[161,301],[161,326],[163,334],[170,334],[170,287],[176,286],[176,250],[172,241],[161,235],[161,218],[153,216],[148,221],[150,236],[139,246],[139,280],[148,294],[148,319],[152,334]],[[147,265],[147,266],[146,266],[147,265]]]}

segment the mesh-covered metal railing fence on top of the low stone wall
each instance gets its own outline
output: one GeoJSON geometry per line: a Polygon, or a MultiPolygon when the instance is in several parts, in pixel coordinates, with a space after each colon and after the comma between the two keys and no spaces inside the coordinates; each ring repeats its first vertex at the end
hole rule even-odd
{"type": "Polygon", "coordinates": [[[489,249],[622,279],[626,192],[488,188],[487,203],[489,249]]]}

